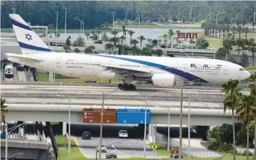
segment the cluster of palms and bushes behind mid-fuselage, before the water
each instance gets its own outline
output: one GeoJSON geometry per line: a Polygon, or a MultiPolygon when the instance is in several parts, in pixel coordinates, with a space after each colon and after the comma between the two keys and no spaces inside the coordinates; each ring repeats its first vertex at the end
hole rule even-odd
{"type": "MultiPolygon", "coordinates": [[[[151,55],[156,55],[156,56],[162,56],[163,51],[160,49],[154,50],[154,47],[156,47],[157,44],[160,44],[162,42],[162,39],[146,39],[144,35],[141,35],[139,37],[133,38],[133,34],[135,32],[133,30],[128,30],[125,29],[125,26],[122,26],[123,28],[123,35],[118,37],[118,31],[113,30],[110,32],[113,37],[109,38],[107,37],[106,33],[103,33],[102,30],[97,29],[93,30],[92,32],[86,32],[85,36],[88,39],[98,41],[100,40],[100,34],[101,34],[101,40],[108,42],[105,44],[105,50],[108,51],[109,54],[118,54],[118,55],[128,55],[128,52],[131,52],[133,55],[146,55],[146,56],[151,56],[151,55]],[[126,37],[130,37],[130,42],[126,43],[126,37]],[[147,40],[149,44],[146,44],[146,47],[142,47],[142,42],[144,40],[147,40]],[[139,45],[138,45],[139,44],[139,45]]],[[[164,41],[166,42],[166,41],[164,41]]],[[[82,47],[84,46],[85,42],[82,37],[78,37],[74,41],[74,47],[82,47]]],[[[70,42],[70,37],[66,39],[66,45],[63,47],[66,52],[71,52],[71,42],[70,42]]],[[[94,53],[94,46],[88,46],[85,48],[84,53],[94,53]]],[[[75,48],[74,52],[81,52],[79,48],[75,48]]]]}

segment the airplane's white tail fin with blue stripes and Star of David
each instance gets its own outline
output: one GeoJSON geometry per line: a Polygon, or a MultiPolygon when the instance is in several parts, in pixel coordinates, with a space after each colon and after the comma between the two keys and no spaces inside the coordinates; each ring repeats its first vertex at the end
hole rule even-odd
{"type": "Polygon", "coordinates": [[[52,52],[19,14],[9,14],[9,17],[12,21],[12,27],[14,28],[22,54],[52,52]]]}

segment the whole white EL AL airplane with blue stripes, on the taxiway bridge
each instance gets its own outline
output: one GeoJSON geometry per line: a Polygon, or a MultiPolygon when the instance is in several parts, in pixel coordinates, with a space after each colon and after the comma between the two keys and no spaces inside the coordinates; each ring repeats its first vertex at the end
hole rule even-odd
{"type": "Polygon", "coordinates": [[[134,80],[170,88],[177,80],[226,83],[250,77],[244,67],[223,60],[52,52],[19,14],[9,17],[22,55],[6,53],[7,59],[48,72],[123,80],[122,90],[136,90],[134,80]]]}

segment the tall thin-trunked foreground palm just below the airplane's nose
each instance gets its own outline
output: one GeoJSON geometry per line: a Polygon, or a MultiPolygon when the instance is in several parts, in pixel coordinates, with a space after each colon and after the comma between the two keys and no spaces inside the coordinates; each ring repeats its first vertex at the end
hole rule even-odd
{"type": "Polygon", "coordinates": [[[236,136],[234,131],[234,109],[238,102],[238,96],[241,94],[241,88],[237,88],[239,80],[229,80],[229,82],[222,85],[221,91],[225,93],[224,99],[224,113],[226,109],[232,110],[232,121],[233,121],[233,159],[236,159],[235,147],[236,147],[236,136]]]}

